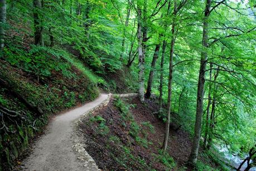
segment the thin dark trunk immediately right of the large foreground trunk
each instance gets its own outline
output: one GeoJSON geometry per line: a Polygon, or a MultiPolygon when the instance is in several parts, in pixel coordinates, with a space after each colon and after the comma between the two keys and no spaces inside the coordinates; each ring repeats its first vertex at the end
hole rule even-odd
{"type": "MultiPolygon", "coordinates": [[[[209,80],[211,80],[211,69],[212,63],[210,63],[210,76],[209,80]]],[[[209,82],[209,93],[208,93],[208,104],[206,108],[206,124],[205,124],[205,138],[204,138],[204,148],[206,149],[208,134],[209,134],[209,113],[210,113],[210,106],[211,106],[211,82],[209,82]]]]}

